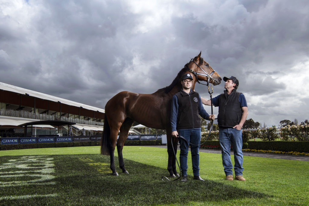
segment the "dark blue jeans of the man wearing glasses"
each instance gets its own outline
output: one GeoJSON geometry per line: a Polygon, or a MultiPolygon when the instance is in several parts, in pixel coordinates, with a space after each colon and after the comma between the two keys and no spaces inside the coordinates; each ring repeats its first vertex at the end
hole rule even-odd
{"type": "MultiPolygon", "coordinates": [[[[200,175],[200,154],[198,153],[198,149],[200,148],[200,146],[196,145],[199,145],[201,143],[201,129],[179,130],[178,134],[190,142],[193,174],[194,176],[200,175]]],[[[179,159],[181,173],[182,175],[187,175],[189,143],[182,138],[178,138],[178,140],[180,143],[179,159]]]]}

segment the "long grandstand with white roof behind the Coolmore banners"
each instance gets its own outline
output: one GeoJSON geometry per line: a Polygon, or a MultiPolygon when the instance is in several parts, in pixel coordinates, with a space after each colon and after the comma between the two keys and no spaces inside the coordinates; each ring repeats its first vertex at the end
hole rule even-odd
{"type": "Polygon", "coordinates": [[[99,135],[104,109],[0,82],[0,137],[99,135]]]}

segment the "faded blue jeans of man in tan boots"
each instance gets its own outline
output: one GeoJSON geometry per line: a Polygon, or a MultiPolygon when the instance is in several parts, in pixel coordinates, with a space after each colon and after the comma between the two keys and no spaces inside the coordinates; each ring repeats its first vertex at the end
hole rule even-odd
{"type": "Polygon", "coordinates": [[[225,175],[233,175],[230,155],[231,144],[234,150],[235,175],[243,175],[243,152],[241,151],[243,147],[242,130],[237,130],[236,128],[220,128],[219,141],[225,175]]]}

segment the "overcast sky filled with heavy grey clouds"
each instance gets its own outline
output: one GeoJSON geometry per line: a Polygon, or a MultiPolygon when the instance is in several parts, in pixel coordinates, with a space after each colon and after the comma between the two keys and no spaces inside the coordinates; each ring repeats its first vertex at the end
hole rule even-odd
{"type": "MultiPolygon", "coordinates": [[[[308,0],[0,0],[0,82],[104,108],[120,91],[170,85],[202,51],[222,78],[238,78],[247,119],[300,123],[308,11],[308,0]]],[[[206,86],[195,90],[209,99],[206,86]]]]}

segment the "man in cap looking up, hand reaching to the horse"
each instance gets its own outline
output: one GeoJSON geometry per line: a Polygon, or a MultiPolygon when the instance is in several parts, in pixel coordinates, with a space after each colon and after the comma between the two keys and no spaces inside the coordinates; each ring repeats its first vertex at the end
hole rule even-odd
{"type": "MultiPolygon", "coordinates": [[[[235,179],[246,181],[243,178],[243,138],[242,127],[248,115],[248,107],[245,96],[237,92],[239,81],[236,77],[224,77],[224,93],[212,99],[215,107],[219,107],[218,126],[219,141],[222,153],[222,163],[227,180],[233,180],[233,165],[231,162],[231,145],[234,151],[234,171],[235,179]]],[[[210,99],[202,98],[205,105],[211,105],[210,99]]]]}

